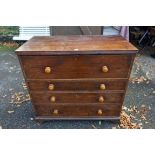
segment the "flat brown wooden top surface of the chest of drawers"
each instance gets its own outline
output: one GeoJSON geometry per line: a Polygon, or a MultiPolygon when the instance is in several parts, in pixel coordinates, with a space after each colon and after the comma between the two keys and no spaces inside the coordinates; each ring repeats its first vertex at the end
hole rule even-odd
{"type": "Polygon", "coordinates": [[[135,48],[130,42],[121,36],[104,37],[101,35],[85,36],[85,35],[71,35],[71,36],[50,36],[50,37],[33,37],[16,52],[17,54],[37,54],[42,52],[53,53],[120,53],[129,52],[136,53],[135,48]]]}

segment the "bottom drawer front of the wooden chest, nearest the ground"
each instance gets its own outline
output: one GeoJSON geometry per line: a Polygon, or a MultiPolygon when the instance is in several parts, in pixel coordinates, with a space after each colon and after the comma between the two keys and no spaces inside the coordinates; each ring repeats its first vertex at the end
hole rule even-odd
{"type": "Polygon", "coordinates": [[[35,105],[36,115],[37,116],[119,116],[121,106],[120,105],[96,105],[96,106],[88,106],[88,105],[70,105],[70,106],[40,106],[35,105]]]}

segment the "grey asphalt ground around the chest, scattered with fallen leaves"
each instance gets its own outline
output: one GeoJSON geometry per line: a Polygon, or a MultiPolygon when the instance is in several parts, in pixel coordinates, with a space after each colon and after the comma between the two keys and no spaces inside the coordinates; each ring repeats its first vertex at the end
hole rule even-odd
{"type": "MultiPolygon", "coordinates": [[[[126,107],[134,105],[148,107],[146,120],[142,121],[143,128],[155,128],[155,59],[149,56],[149,53],[154,50],[149,47],[145,48],[136,57],[124,101],[126,107]],[[139,83],[133,83],[137,77],[144,78],[139,83]]],[[[0,52],[1,128],[112,128],[119,123],[115,121],[47,121],[38,123],[33,120],[30,101],[21,104],[10,103],[13,94],[18,92],[22,92],[23,96],[28,94],[22,83],[24,83],[24,79],[15,53],[0,52]]]]}

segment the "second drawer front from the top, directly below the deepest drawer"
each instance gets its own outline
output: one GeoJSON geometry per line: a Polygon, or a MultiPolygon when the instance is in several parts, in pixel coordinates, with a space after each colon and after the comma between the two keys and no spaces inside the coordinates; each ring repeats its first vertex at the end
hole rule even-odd
{"type": "Polygon", "coordinates": [[[127,80],[48,80],[28,81],[31,91],[106,91],[125,90],[127,80]]]}

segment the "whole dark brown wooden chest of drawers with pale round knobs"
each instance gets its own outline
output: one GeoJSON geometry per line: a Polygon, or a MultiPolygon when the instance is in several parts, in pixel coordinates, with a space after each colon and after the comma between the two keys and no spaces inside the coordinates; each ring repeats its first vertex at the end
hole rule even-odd
{"type": "Polygon", "coordinates": [[[119,119],[137,49],[122,37],[33,37],[16,50],[36,119],[119,119]]]}

